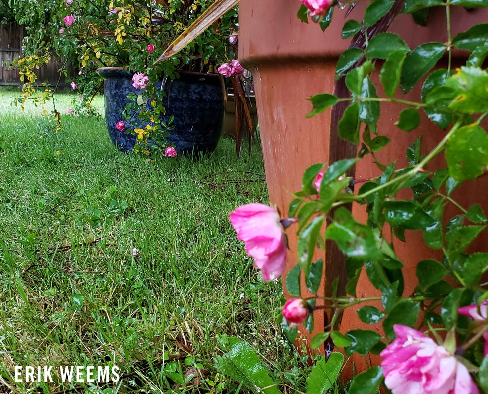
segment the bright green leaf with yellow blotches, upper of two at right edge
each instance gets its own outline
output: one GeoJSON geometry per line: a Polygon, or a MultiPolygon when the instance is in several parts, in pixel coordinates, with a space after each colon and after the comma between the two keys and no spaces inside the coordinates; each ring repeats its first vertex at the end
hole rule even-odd
{"type": "Polygon", "coordinates": [[[454,95],[449,108],[467,114],[488,110],[488,73],[476,67],[461,67],[445,83],[454,95]]]}

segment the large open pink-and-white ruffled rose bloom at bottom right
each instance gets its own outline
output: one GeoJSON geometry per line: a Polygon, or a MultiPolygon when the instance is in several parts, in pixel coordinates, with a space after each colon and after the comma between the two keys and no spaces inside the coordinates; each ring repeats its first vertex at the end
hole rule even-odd
{"type": "Polygon", "coordinates": [[[413,328],[394,325],[396,339],[382,352],[384,383],[393,394],[478,394],[466,367],[413,328]]]}

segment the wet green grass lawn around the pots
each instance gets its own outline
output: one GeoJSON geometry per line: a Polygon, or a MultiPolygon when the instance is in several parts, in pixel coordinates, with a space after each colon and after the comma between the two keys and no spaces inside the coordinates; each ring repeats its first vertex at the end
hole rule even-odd
{"type": "Polygon", "coordinates": [[[296,385],[281,284],[260,278],[228,220],[267,203],[259,145],[149,163],[118,152],[102,118],[67,115],[68,95],[58,133],[14,96],[0,91],[0,392],[246,393],[213,361],[230,336],[296,385]],[[14,366],[113,365],[122,379],[98,388],[13,381],[14,366]]]}

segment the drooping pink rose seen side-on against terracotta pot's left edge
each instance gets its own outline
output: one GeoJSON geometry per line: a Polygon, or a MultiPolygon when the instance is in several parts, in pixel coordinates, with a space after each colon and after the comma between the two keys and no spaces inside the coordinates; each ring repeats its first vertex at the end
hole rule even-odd
{"type": "Polygon", "coordinates": [[[264,204],[247,204],[234,210],[229,219],[263,278],[271,281],[279,277],[285,269],[287,245],[276,209],[264,204]]]}

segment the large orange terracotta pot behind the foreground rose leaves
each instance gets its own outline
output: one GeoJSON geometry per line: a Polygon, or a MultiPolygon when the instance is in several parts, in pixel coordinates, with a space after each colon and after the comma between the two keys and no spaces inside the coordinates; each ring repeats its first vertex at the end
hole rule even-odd
{"type": "MultiPolygon", "coordinates": [[[[287,213],[292,200],[288,191],[300,190],[304,170],[313,163],[327,163],[329,160],[331,111],[327,110],[319,116],[306,119],[305,115],[311,110],[311,104],[306,98],[317,93],[332,93],[338,56],[350,43],[349,40],[341,39],[345,10],[336,9],[332,24],[322,32],[316,24],[305,24],[297,19],[299,5],[297,0],[245,0],[239,6],[240,62],[254,76],[269,200],[283,214],[287,213]]],[[[361,20],[366,5],[367,2],[358,3],[350,18],[361,20]]],[[[455,15],[452,23],[453,36],[473,24],[488,20],[487,9],[468,12],[455,7],[451,14],[455,15]]],[[[389,31],[400,34],[410,48],[415,48],[423,42],[446,42],[445,26],[445,13],[431,12],[427,27],[414,24],[410,15],[399,15],[389,31]]],[[[462,59],[457,57],[465,54],[458,51],[454,55],[454,66],[462,64],[462,59]]],[[[376,68],[379,70],[379,65],[376,68]]],[[[377,72],[373,74],[373,80],[381,97],[383,92],[380,91],[377,72]]],[[[415,101],[419,97],[418,87],[403,96],[415,101]]],[[[421,126],[417,130],[410,133],[399,130],[394,123],[402,109],[397,104],[382,106],[378,124],[380,134],[394,141],[380,152],[378,159],[382,163],[391,163],[398,159],[397,167],[407,165],[406,149],[419,135],[423,136],[422,152],[428,152],[445,135],[445,131],[433,125],[423,114],[421,126]]],[[[429,165],[429,170],[436,166],[445,167],[443,155],[429,165]]],[[[374,177],[380,173],[369,158],[362,160],[356,167],[356,178],[374,177]]],[[[478,192],[485,190],[487,186],[486,179],[477,183],[467,182],[455,197],[465,206],[478,202],[488,209],[487,198],[478,192]]],[[[410,198],[407,194],[400,197],[410,198]]],[[[459,212],[456,208],[451,206],[448,214],[457,213],[459,212]]],[[[366,222],[364,206],[353,205],[353,215],[357,220],[366,222]]],[[[287,231],[290,241],[287,270],[298,262],[297,238],[290,230],[292,228],[287,231]]],[[[473,249],[488,250],[488,234],[486,231],[484,233],[484,236],[478,237],[473,249]]],[[[421,231],[407,231],[406,238],[406,243],[395,240],[394,245],[399,258],[405,264],[405,294],[411,294],[417,282],[414,268],[416,263],[427,258],[439,258],[439,253],[425,246],[421,231]]],[[[334,279],[332,273],[344,271],[343,261],[339,266],[325,267],[323,293],[330,288],[334,279]]],[[[378,291],[368,283],[366,275],[363,275],[357,286],[357,296],[376,295],[378,291]]],[[[324,315],[316,314],[316,331],[322,331],[325,324],[324,315]]],[[[343,316],[341,331],[346,332],[353,328],[366,327],[357,318],[356,312],[349,308],[343,316]]],[[[379,325],[367,328],[381,331],[379,325]]],[[[356,373],[364,369],[362,358],[356,358],[354,362],[356,373]]],[[[373,362],[377,363],[378,359],[373,362]]]]}

